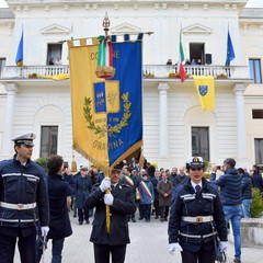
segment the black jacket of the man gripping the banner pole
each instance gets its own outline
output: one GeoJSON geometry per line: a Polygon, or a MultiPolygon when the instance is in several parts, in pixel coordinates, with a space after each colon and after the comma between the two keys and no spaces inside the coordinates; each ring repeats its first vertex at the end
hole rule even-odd
{"type": "Polygon", "coordinates": [[[93,228],[90,241],[96,244],[123,245],[129,243],[127,216],[136,211],[135,196],[132,187],[117,184],[113,205],[110,206],[111,228],[106,231],[106,213],[103,201],[104,193],[99,185],[94,185],[94,191],[87,198],[84,206],[88,209],[95,207],[93,228]]]}

